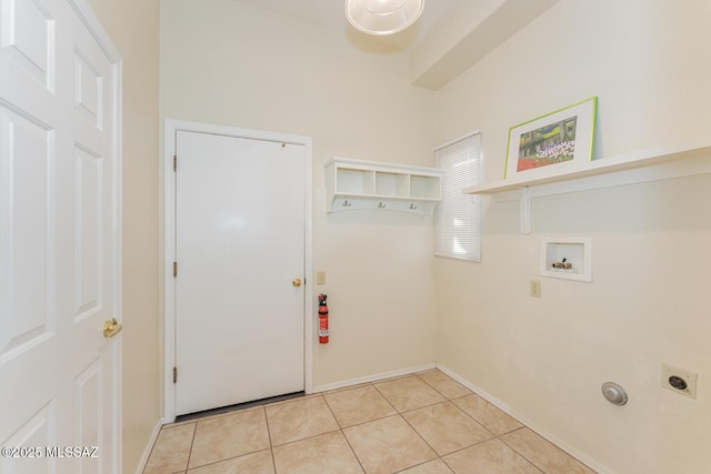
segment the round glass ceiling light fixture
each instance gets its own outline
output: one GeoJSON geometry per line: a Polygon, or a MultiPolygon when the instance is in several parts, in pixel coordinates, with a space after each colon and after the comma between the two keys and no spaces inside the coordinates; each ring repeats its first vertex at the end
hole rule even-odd
{"type": "Polygon", "coordinates": [[[410,27],[423,8],[424,0],[346,0],[346,17],[364,33],[385,36],[410,27]]]}

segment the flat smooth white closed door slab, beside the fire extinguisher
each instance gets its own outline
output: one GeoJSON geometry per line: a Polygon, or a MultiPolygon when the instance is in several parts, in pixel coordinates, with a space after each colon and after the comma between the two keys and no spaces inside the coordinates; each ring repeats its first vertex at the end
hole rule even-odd
{"type": "Polygon", "coordinates": [[[304,147],[177,133],[177,414],[304,389],[304,147]]]}

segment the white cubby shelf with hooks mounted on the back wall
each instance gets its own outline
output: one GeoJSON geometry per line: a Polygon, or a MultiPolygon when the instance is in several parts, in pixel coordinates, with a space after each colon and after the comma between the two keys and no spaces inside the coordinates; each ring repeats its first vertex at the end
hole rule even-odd
{"type": "Polygon", "coordinates": [[[435,168],[333,158],[326,164],[328,212],[382,209],[431,215],[442,199],[435,168]]]}

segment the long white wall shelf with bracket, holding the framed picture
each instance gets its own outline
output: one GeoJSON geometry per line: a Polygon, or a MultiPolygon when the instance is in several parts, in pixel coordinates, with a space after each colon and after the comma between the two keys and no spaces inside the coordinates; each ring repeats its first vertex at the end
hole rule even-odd
{"type": "Polygon", "coordinates": [[[532,198],[705,173],[711,173],[709,141],[601,158],[553,177],[512,178],[468,186],[462,192],[490,194],[501,201],[519,199],[521,233],[530,233],[532,198]]]}

